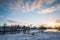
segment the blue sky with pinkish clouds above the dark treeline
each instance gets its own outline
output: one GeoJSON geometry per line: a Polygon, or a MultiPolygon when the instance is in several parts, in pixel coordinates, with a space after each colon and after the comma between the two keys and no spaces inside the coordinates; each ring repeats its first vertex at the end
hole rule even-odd
{"type": "Polygon", "coordinates": [[[0,25],[39,25],[50,20],[60,23],[60,0],[0,0],[0,25]]]}

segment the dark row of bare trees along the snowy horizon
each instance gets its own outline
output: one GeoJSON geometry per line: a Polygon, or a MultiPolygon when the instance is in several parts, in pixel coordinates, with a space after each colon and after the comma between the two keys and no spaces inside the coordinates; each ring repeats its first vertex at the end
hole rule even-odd
{"type": "MultiPolygon", "coordinates": [[[[4,25],[2,26],[2,30],[0,29],[0,32],[2,32],[2,34],[6,34],[6,33],[10,33],[10,34],[14,34],[14,33],[20,33],[23,32],[25,33],[30,33],[30,30],[40,30],[40,32],[43,32],[46,29],[52,29],[50,27],[45,27],[43,25],[41,25],[40,27],[30,27],[30,26],[19,26],[19,25],[14,25],[14,26],[7,26],[6,23],[4,23],[4,25]]],[[[56,27],[55,29],[59,29],[60,27],[56,27]]]]}

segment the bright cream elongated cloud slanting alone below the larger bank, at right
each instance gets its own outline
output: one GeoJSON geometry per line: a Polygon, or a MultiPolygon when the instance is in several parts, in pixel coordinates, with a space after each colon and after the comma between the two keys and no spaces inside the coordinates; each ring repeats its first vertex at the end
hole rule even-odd
{"type": "Polygon", "coordinates": [[[58,11],[58,10],[60,10],[60,4],[44,9],[42,11],[38,11],[38,14],[47,14],[47,13],[51,13],[51,12],[58,11]]]}

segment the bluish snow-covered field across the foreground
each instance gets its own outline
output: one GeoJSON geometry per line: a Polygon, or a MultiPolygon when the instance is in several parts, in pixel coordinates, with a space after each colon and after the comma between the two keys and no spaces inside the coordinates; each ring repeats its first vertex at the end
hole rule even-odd
{"type": "Polygon", "coordinates": [[[60,33],[42,32],[32,34],[5,34],[0,35],[0,40],[60,40],[60,33]]]}

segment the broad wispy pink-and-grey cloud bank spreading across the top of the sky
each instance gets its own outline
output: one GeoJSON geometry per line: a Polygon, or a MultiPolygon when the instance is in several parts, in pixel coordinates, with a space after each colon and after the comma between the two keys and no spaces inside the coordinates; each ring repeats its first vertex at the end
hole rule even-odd
{"type": "Polygon", "coordinates": [[[8,7],[12,15],[35,11],[44,5],[49,5],[56,0],[1,0],[0,5],[8,7]]]}

